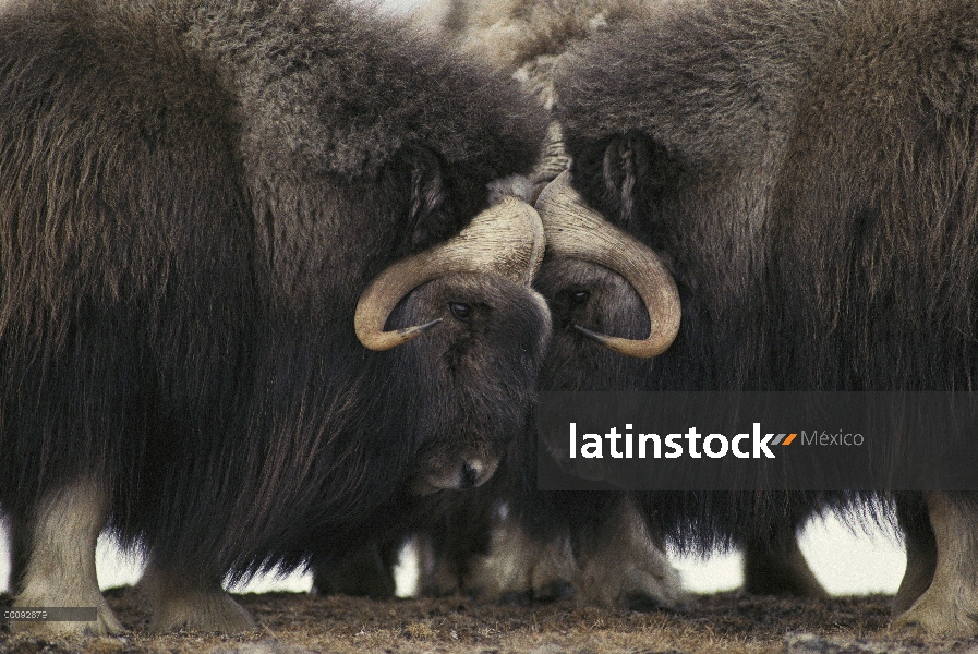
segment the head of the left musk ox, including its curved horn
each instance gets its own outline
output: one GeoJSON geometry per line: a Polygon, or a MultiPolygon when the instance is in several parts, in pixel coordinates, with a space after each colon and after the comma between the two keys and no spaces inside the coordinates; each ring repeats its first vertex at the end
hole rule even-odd
{"type": "Polygon", "coordinates": [[[391,358],[397,374],[414,371],[399,403],[411,407],[405,428],[422,444],[415,492],[481,485],[522,427],[550,336],[546,304],[530,289],[543,251],[536,213],[504,196],[457,237],[390,265],[360,296],[354,325],[369,349],[431,330],[391,358]]]}

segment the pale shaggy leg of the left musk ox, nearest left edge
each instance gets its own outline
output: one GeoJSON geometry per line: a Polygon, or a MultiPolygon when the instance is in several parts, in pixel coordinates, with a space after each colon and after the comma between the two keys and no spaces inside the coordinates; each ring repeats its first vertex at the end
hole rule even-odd
{"type": "Polygon", "coordinates": [[[27,523],[14,528],[19,543],[15,548],[26,545],[29,550],[26,565],[20,564],[23,567],[16,572],[20,589],[14,607],[94,606],[98,616],[94,622],[11,622],[15,631],[43,635],[122,631],[98,590],[95,573],[95,545],[108,513],[104,486],[85,480],[48,493],[27,523]],[[22,530],[26,530],[26,535],[22,530]]]}

